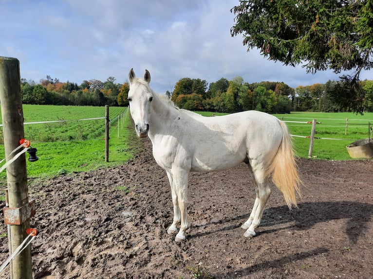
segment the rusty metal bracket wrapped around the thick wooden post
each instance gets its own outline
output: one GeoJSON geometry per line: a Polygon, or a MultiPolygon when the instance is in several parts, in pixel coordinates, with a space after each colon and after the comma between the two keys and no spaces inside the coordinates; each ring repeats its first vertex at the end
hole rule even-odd
{"type": "Polygon", "coordinates": [[[31,217],[35,216],[35,200],[31,200],[21,208],[4,207],[4,224],[21,225],[31,217]]]}

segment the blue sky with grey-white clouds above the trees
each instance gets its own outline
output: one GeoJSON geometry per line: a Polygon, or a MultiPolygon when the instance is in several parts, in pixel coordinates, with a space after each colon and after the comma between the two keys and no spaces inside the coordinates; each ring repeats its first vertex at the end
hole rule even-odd
{"type": "MultiPolygon", "coordinates": [[[[208,83],[241,76],[245,82],[283,81],[291,87],[337,80],[338,74],[307,74],[246,52],[231,37],[239,0],[0,0],[0,56],[16,57],[21,77],[39,82],[116,78],[134,69],[151,74],[164,93],[184,77],[208,83]]],[[[363,72],[362,79],[373,79],[363,72]]]]}

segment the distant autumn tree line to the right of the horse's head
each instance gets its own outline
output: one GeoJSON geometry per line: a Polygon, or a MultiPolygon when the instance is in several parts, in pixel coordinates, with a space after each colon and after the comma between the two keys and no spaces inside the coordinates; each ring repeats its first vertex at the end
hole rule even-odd
{"type": "MultiPolygon", "coordinates": [[[[354,107],[340,103],[336,81],[325,84],[289,87],[283,82],[246,83],[242,77],[230,81],[221,78],[210,83],[201,79],[180,79],[166,95],[180,108],[216,112],[260,110],[267,113],[291,111],[345,112],[354,107]]],[[[364,90],[364,111],[373,111],[373,81],[360,82],[364,90]]]]}

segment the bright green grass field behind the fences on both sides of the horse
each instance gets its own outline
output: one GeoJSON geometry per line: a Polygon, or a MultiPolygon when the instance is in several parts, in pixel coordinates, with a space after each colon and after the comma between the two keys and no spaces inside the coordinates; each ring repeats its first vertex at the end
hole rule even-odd
{"type": "MultiPolygon", "coordinates": [[[[23,105],[25,122],[58,121],[67,122],[25,125],[25,138],[37,148],[39,160],[27,163],[29,178],[45,178],[72,172],[94,170],[123,164],[131,159],[139,146],[133,144],[136,137],[131,124],[129,112],[126,119],[117,116],[124,113],[123,107],[111,107],[110,119],[110,152],[109,162],[104,160],[105,130],[104,119],[76,121],[79,119],[105,116],[104,107],[89,106],[48,106],[23,105]]],[[[224,113],[200,112],[210,117],[212,114],[224,113]]],[[[312,155],[318,159],[348,160],[351,159],[346,145],[355,140],[368,138],[368,122],[373,123],[373,113],[356,115],[354,113],[303,113],[293,112],[275,115],[286,122],[290,133],[296,136],[310,136],[312,124],[296,123],[316,119],[321,122],[316,126],[316,139],[312,155]],[[346,119],[348,120],[345,135],[346,119]],[[325,138],[325,139],[324,139],[325,138]],[[327,140],[340,139],[340,140],[327,140]]],[[[2,129],[0,140],[2,140],[2,129]]],[[[299,157],[308,157],[310,139],[293,137],[299,157]]],[[[0,145],[0,158],[4,157],[4,146],[0,145]]],[[[28,155],[26,156],[28,157],[28,155]]],[[[5,181],[6,172],[0,174],[0,181],[5,181]]]]}

